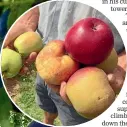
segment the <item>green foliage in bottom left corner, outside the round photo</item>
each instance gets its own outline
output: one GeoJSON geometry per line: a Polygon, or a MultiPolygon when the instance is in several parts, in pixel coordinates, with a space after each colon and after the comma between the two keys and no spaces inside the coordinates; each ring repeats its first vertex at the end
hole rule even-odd
{"type": "Polygon", "coordinates": [[[0,127],[28,127],[31,121],[24,114],[13,111],[4,88],[0,88],[0,127]]]}

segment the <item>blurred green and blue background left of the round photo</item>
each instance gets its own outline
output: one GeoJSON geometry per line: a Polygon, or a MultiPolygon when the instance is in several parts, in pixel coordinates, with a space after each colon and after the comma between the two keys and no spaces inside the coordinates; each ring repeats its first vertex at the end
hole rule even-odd
{"type": "MultiPolygon", "coordinates": [[[[46,0],[0,0],[0,47],[15,20],[29,8],[46,0]]],[[[28,127],[31,119],[8,98],[0,79],[0,127],[28,127]]]]}

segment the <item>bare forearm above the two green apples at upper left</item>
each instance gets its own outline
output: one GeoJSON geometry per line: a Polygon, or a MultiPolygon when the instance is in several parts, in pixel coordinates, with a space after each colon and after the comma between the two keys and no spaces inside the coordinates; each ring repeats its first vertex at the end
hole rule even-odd
{"type": "Polygon", "coordinates": [[[33,8],[29,12],[25,13],[16,23],[12,26],[11,30],[7,34],[4,47],[12,46],[13,41],[24,32],[35,31],[39,21],[39,8],[33,8]]]}

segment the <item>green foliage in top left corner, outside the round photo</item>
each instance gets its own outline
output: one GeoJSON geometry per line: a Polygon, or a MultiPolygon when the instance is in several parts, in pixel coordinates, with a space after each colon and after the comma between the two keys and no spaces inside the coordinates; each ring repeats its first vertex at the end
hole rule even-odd
{"type": "Polygon", "coordinates": [[[8,20],[8,28],[10,28],[25,11],[44,1],[47,0],[0,0],[0,15],[8,8],[11,10],[8,20]]]}

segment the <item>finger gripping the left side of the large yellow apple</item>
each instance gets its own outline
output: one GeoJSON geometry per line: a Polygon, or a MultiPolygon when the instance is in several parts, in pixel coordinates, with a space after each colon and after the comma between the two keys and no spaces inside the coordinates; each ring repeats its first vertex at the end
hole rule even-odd
{"type": "Polygon", "coordinates": [[[68,105],[72,105],[67,94],[66,94],[66,82],[62,82],[61,83],[61,87],[60,87],[60,96],[62,97],[62,99],[68,104],[68,105]]]}

